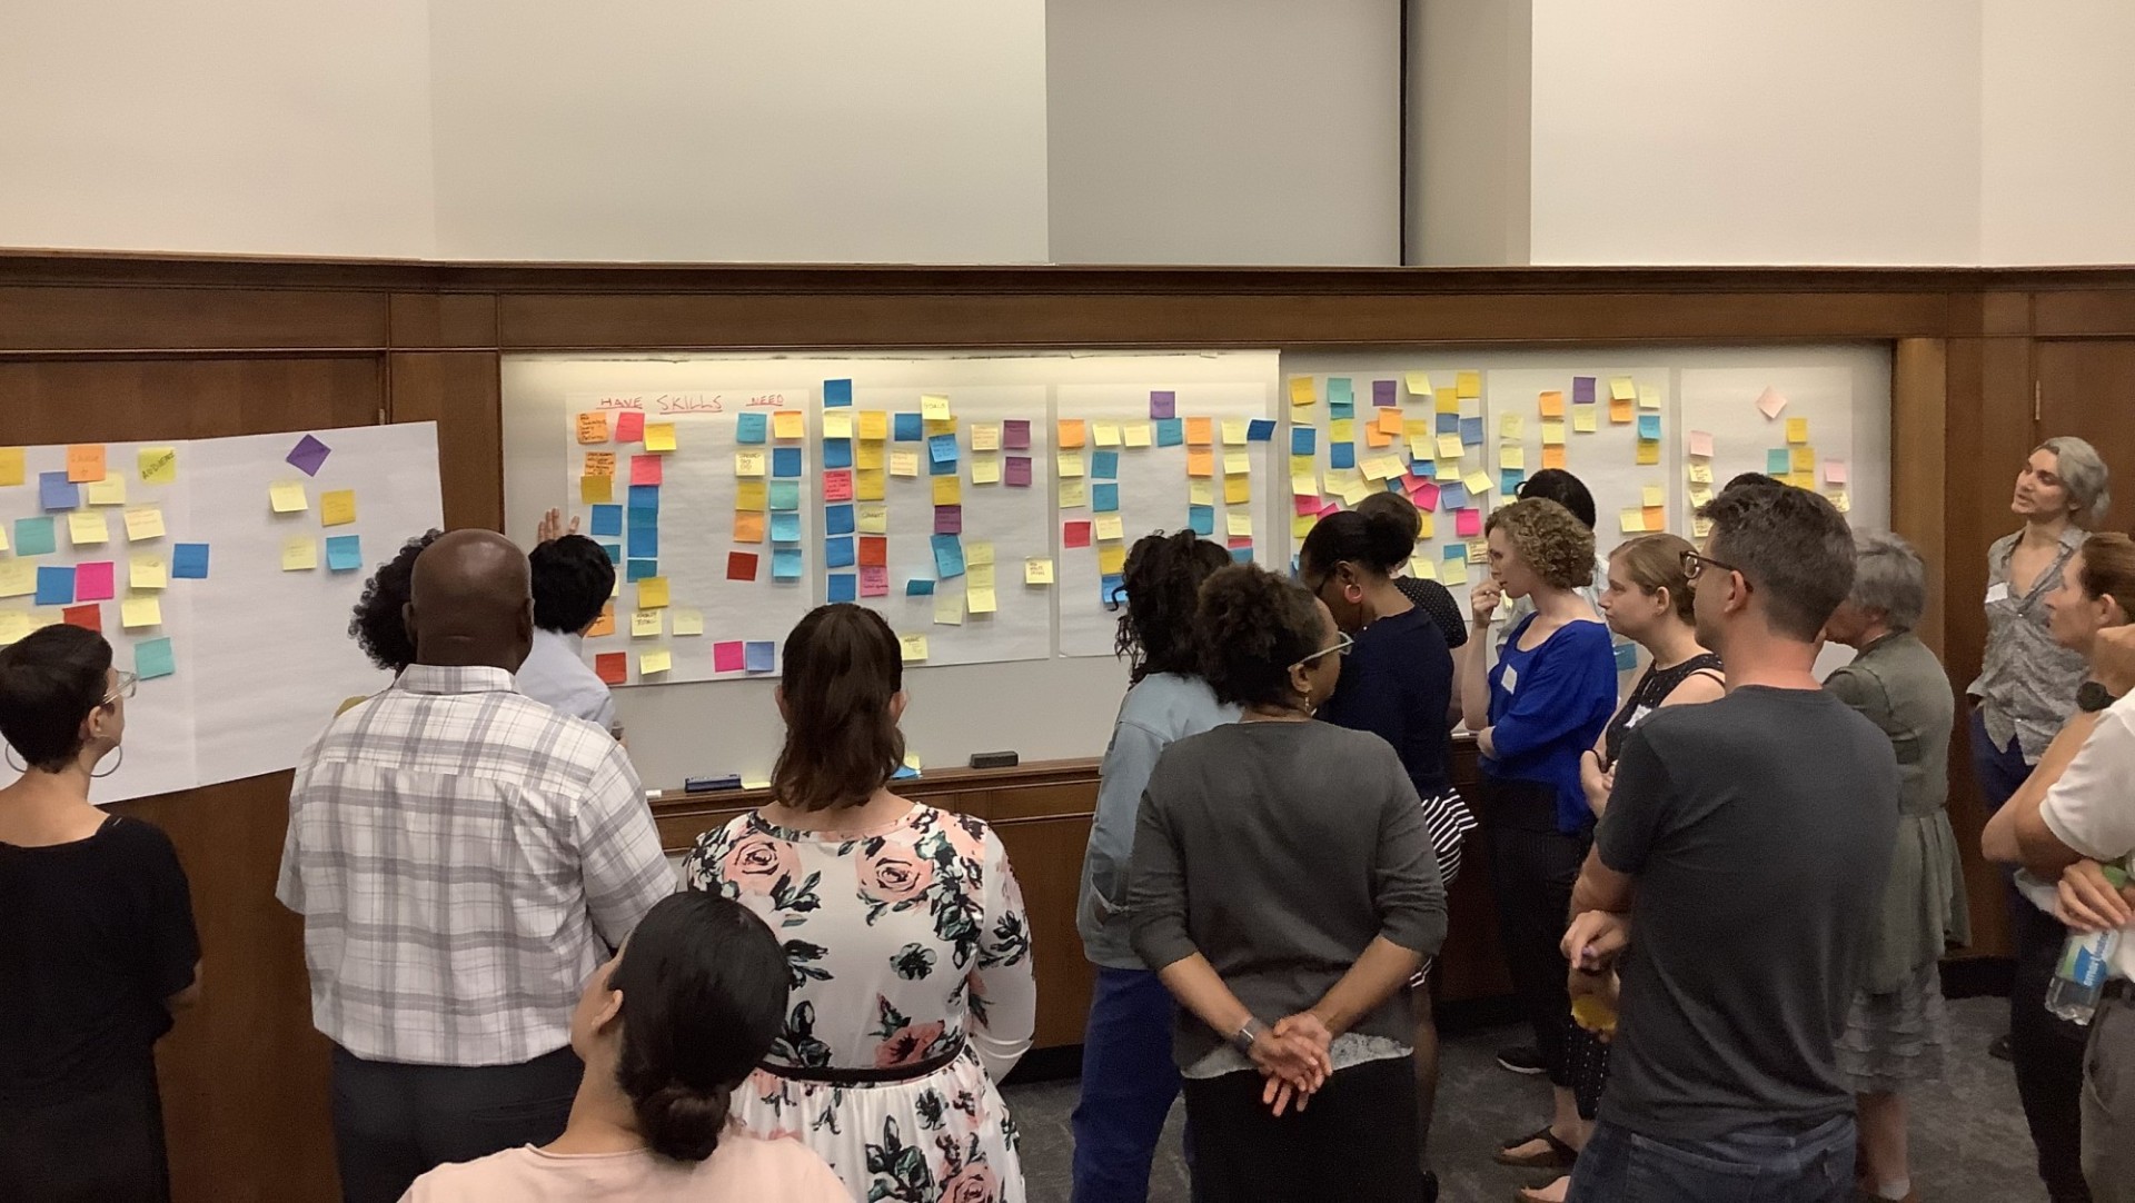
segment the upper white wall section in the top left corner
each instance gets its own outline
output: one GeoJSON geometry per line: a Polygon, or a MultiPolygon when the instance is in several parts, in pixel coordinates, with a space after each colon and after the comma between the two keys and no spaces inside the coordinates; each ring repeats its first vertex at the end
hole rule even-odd
{"type": "Polygon", "coordinates": [[[429,256],[427,0],[0,4],[0,245],[429,256]]]}

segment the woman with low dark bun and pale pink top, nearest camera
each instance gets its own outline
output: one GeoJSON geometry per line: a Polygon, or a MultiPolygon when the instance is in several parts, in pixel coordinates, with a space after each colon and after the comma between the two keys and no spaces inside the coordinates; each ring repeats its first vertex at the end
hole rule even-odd
{"type": "Polygon", "coordinates": [[[777,936],[726,898],[666,898],[579,996],[570,1047],[585,1077],[564,1135],[438,1167],[401,1203],[845,1203],[820,1156],[728,1118],[784,1015],[777,936]]]}

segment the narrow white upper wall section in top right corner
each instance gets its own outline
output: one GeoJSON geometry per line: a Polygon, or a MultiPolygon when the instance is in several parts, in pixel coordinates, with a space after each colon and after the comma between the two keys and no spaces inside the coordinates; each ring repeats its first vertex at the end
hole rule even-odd
{"type": "Polygon", "coordinates": [[[2135,262],[2135,4],[1983,2],[1981,262],[2135,262]]]}

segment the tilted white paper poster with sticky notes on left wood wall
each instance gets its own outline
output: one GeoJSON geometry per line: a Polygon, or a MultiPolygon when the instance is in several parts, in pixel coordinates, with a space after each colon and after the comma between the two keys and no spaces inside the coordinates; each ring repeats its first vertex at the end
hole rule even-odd
{"type": "Polygon", "coordinates": [[[284,770],[344,697],[386,685],[348,616],[376,563],[442,525],[433,424],[21,450],[23,484],[0,486],[0,644],[96,623],[143,676],[98,802],[284,770]],[[92,448],[102,480],[47,497],[92,448]]]}

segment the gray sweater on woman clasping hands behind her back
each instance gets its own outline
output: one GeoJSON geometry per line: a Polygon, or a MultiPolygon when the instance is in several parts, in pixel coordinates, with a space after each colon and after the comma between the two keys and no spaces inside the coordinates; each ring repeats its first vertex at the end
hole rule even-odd
{"type": "MultiPolygon", "coordinates": [[[[1193,953],[1264,1022],[1304,1011],[1375,936],[1430,956],[1445,885],[1422,800],[1379,736],[1330,723],[1234,723],[1164,751],[1134,832],[1134,951],[1193,953]]],[[[1409,992],[1351,1028],[1409,1041],[1409,992]]],[[[1223,1043],[1181,1009],[1172,1056],[1223,1043]]]]}

